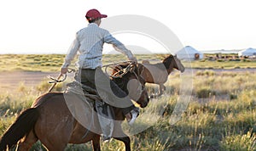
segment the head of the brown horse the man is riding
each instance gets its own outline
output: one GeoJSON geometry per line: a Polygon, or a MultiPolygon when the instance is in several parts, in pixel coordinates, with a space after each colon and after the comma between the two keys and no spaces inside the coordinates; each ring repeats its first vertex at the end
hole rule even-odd
{"type": "Polygon", "coordinates": [[[149,97],[145,81],[141,76],[143,66],[131,63],[119,64],[113,68],[112,78],[119,87],[136,101],[140,107],[148,105],[149,97]]]}

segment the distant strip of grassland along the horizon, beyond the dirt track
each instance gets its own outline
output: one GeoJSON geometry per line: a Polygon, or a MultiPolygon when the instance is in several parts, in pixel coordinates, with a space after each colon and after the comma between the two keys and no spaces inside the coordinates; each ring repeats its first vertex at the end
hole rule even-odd
{"type": "MultiPolygon", "coordinates": [[[[160,62],[166,54],[137,54],[139,62],[148,59],[151,63],[160,62]]],[[[65,54],[0,54],[1,71],[59,71],[65,54]]],[[[112,64],[127,60],[123,54],[104,54],[103,64],[112,64]]],[[[72,68],[76,59],[73,60],[72,68]]],[[[240,69],[256,68],[256,61],[249,59],[218,59],[183,61],[187,68],[195,69],[240,69]]]]}

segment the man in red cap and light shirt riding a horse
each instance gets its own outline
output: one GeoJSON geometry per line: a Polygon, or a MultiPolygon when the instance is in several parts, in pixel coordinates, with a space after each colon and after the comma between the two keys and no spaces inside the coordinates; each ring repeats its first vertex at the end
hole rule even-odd
{"type": "Polygon", "coordinates": [[[61,75],[67,73],[68,65],[71,64],[71,61],[79,52],[79,71],[75,76],[75,80],[95,88],[105,103],[121,108],[128,124],[131,125],[136,120],[139,109],[134,106],[130,98],[126,97],[126,93],[113,81],[110,81],[109,77],[102,71],[103,44],[105,42],[113,44],[115,50],[124,53],[129,60],[135,63],[137,63],[137,59],[109,31],[99,27],[102,18],[107,17],[106,14],[101,14],[96,9],[90,9],[85,17],[89,25],[76,33],[76,38],[67,53],[64,64],[62,64],[61,75]]]}

